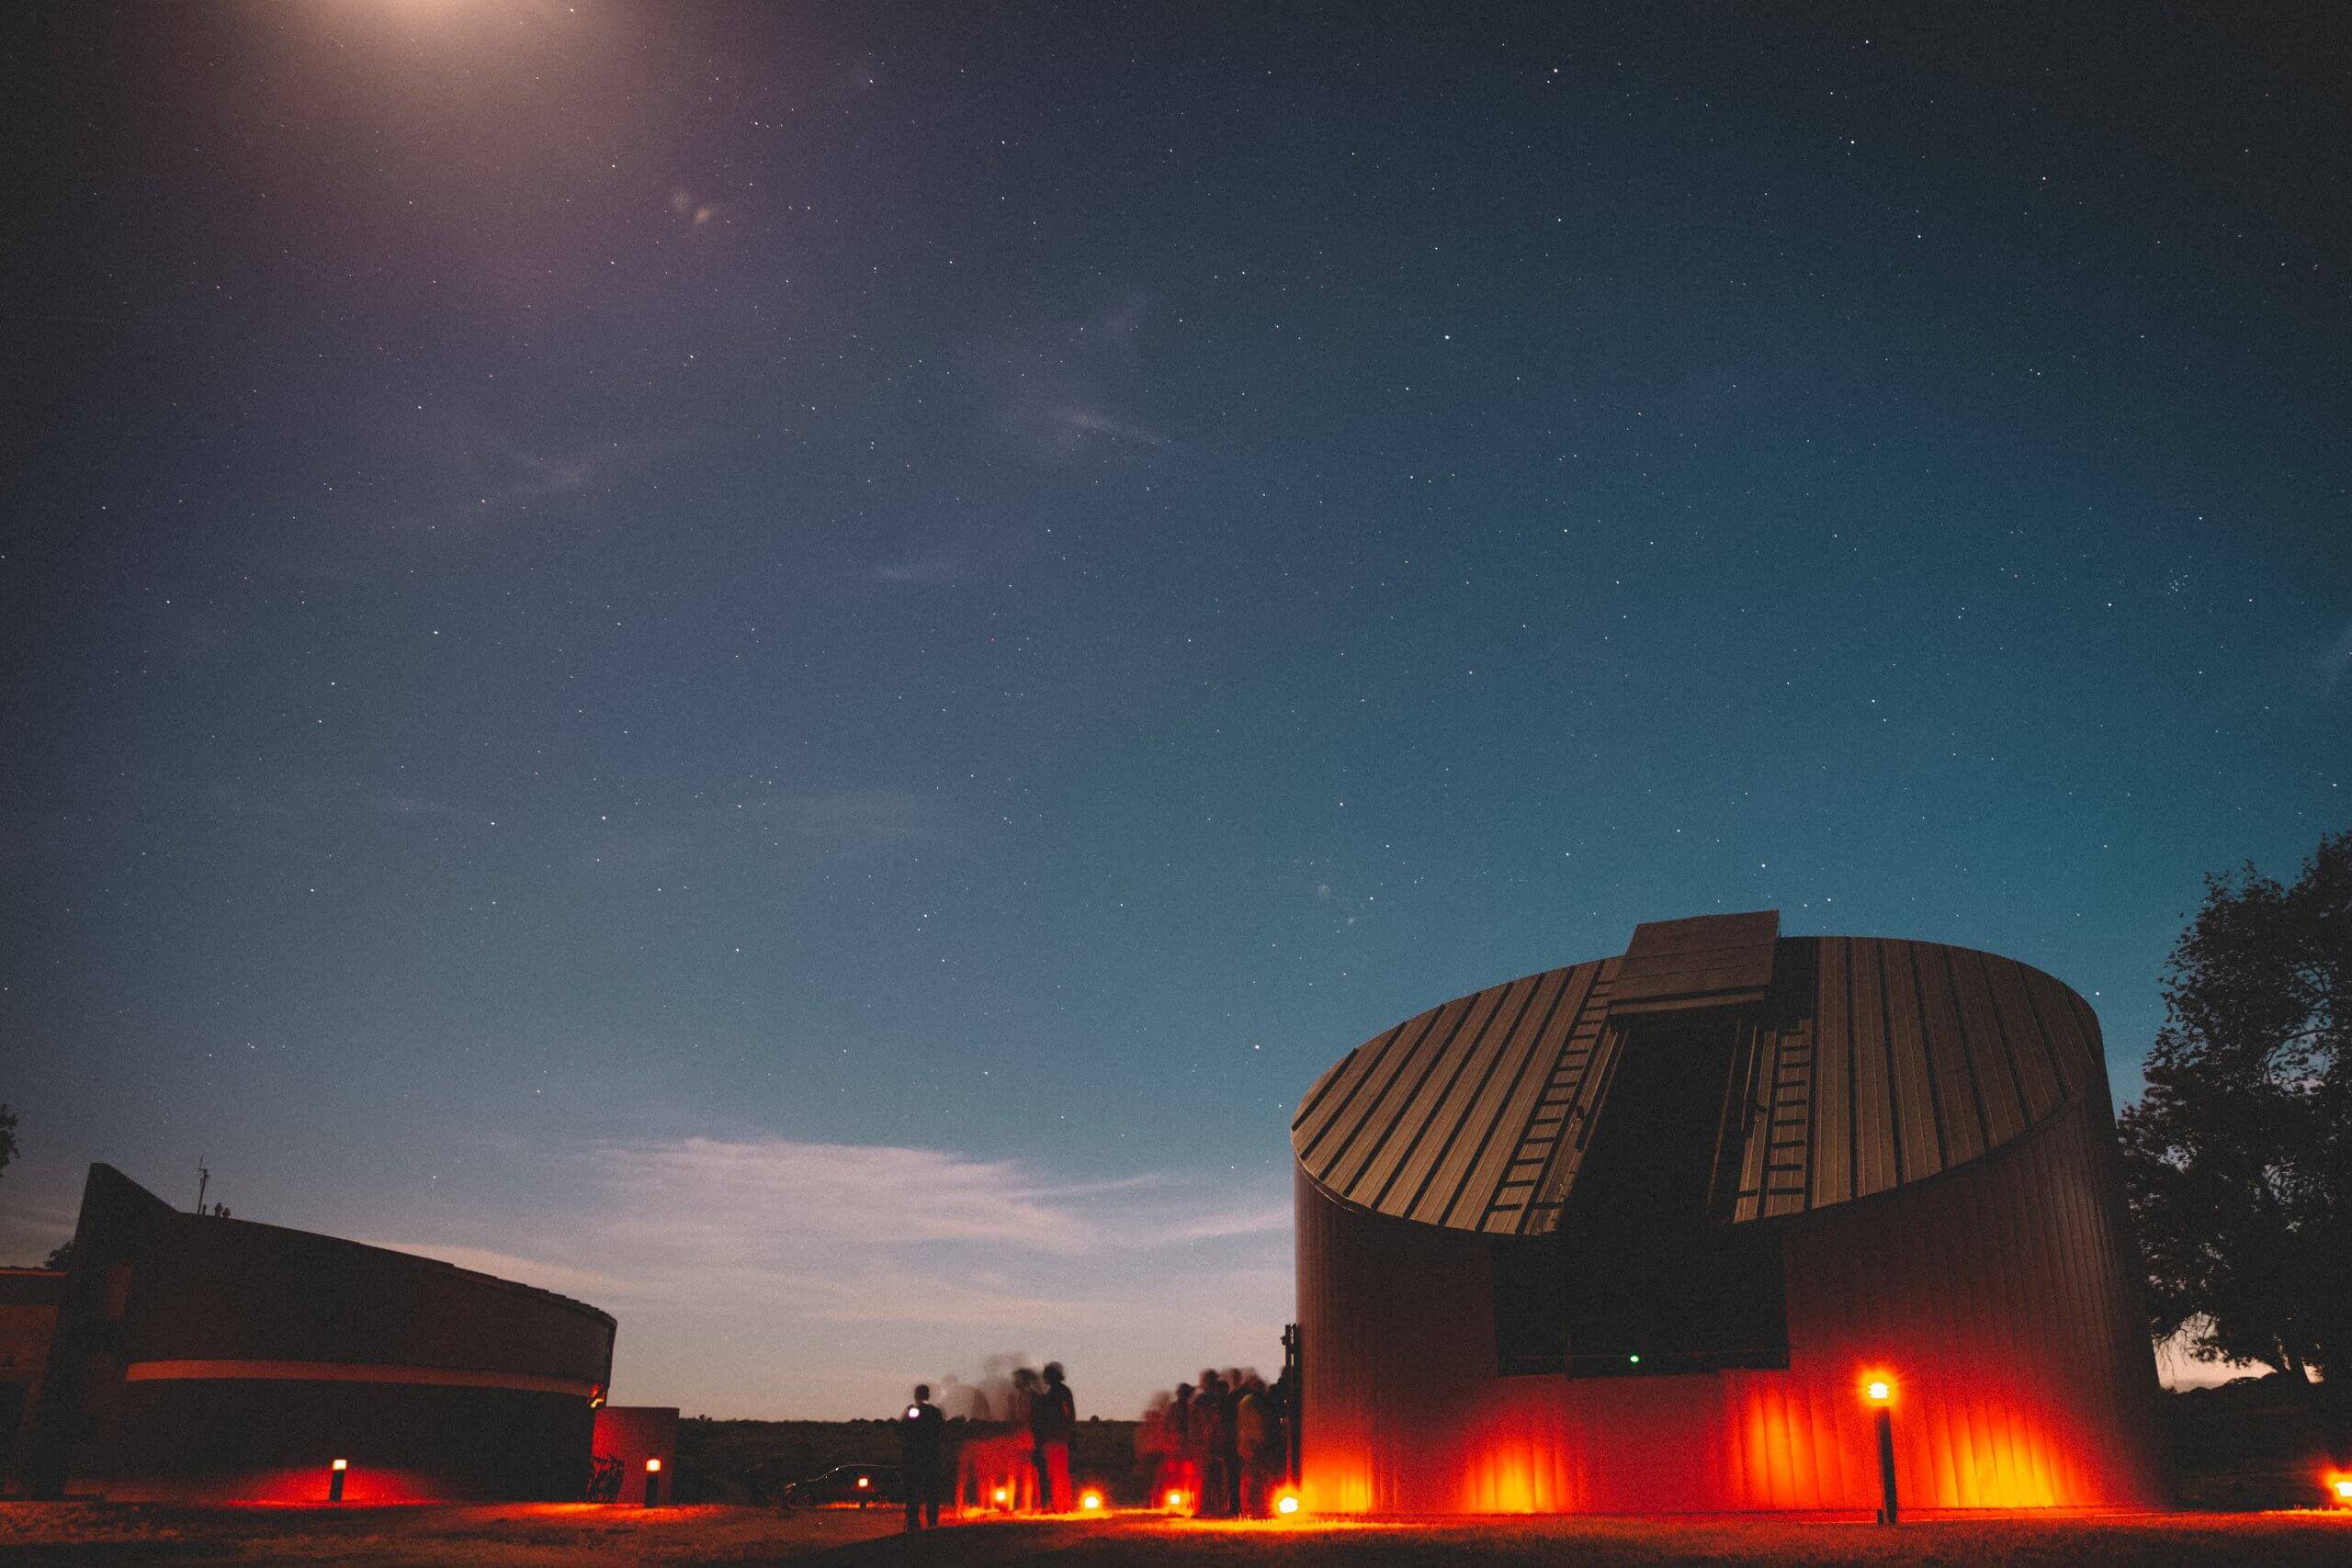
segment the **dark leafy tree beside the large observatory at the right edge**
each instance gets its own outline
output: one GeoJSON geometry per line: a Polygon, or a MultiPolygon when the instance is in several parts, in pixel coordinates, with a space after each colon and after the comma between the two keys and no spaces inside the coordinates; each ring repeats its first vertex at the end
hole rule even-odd
{"type": "Polygon", "coordinates": [[[2206,877],[2122,1117],[2150,1328],[2352,1382],[2352,830],[2293,884],[2206,877]]]}

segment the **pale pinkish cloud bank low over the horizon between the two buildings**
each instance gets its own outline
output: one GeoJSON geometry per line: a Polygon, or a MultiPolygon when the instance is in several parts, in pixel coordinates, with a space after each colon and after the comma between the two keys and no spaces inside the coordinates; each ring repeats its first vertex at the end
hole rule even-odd
{"type": "Polygon", "coordinates": [[[1188,1363],[1268,1356],[1289,1309],[1287,1206],[1176,1173],[1068,1182],[793,1138],[597,1143],[555,1166],[576,1194],[555,1229],[482,1213],[470,1234],[379,1244],[614,1312],[626,1399],[847,1415],[1023,1342],[1087,1366],[1089,1408],[1127,1413],[1188,1363]],[[835,1347],[823,1394],[736,1378],[760,1345],[809,1342],[835,1347]]]}

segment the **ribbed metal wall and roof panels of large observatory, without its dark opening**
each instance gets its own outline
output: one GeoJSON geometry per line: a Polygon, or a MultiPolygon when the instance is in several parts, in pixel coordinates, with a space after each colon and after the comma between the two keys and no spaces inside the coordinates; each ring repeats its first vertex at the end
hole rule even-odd
{"type": "MultiPolygon", "coordinates": [[[[1508,1173],[1461,1150],[1524,1135],[1545,1100],[1526,1084],[1576,1058],[1606,964],[1446,1004],[1327,1074],[1296,1143],[1308,1507],[1867,1512],[1870,1378],[1896,1385],[1905,1507],[2161,1497],[2154,1356],[2089,1006],[2023,964],[1924,943],[1820,938],[1816,971],[1816,1016],[1755,1056],[1743,1145],[1743,1220],[1783,1237],[1788,1371],[1496,1373],[1489,1248],[1526,1241],[1465,1215],[1463,1182],[1442,1204],[1430,1190],[1446,1171],[1508,1173]],[[1430,1044],[1449,1039],[1470,1053],[1430,1044]],[[1395,1145],[1414,1107],[1451,1105],[1395,1145]],[[1402,1201],[1414,1171],[1421,1190],[1402,1201]]],[[[1595,1027],[1592,1051],[1609,1034],[1595,1027]]]]}

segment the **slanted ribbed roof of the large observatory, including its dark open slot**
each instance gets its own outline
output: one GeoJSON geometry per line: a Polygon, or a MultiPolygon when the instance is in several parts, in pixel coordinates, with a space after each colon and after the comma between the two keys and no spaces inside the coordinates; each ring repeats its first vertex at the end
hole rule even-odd
{"type": "Polygon", "coordinates": [[[1983,1159],[2105,1093],[2098,1025],[1966,947],[1649,922],[1621,957],[1364,1041],[1291,1124],[1341,1204],[1494,1248],[1501,1371],[1788,1366],[1783,1220],[1983,1159]],[[1562,1312],[1562,1305],[1566,1307],[1562,1312]]]}

